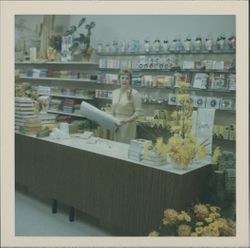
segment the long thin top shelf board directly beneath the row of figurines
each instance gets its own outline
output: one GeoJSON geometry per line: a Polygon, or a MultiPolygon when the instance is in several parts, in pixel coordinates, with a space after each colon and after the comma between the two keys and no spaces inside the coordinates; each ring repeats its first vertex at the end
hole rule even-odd
{"type": "Polygon", "coordinates": [[[141,56],[141,55],[178,55],[178,54],[235,54],[235,49],[216,49],[216,50],[191,50],[191,51],[136,51],[136,52],[97,52],[98,56],[141,56]]]}

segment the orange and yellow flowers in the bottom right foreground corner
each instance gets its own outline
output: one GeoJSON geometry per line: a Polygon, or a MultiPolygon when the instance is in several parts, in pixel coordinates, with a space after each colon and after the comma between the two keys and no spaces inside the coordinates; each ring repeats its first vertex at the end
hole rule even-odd
{"type": "Polygon", "coordinates": [[[149,236],[235,236],[236,225],[221,218],[221,209],[209,204],[196,204],[186,211],[164,210],[162,225],[149,236]]]}

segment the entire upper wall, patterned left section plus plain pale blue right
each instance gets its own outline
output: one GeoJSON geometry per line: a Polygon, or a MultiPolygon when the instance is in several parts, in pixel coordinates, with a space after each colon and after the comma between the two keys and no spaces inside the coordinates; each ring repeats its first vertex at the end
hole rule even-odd
{"type": "MultiPolygon", "coordinates": [[[[98,42],[110,42],[113,40],[139,39],[146,37],[151,40],[169,39],[170,41],[180,37],[182,40],[190,35],[192,39],[200,34],[205,38],[211,34],[214,39],[221,33],[226,37],[235,34],[235,16],[229,15],[83,15],[87,17],[87,23],[96,22],[92,30],[92,45],[98,42]]],[[[79,15],[57,15],[55,18],[55,32],[64,32],[70,25],[77,25],[81,17],[79,15]]],[[[37,28],[42,23],[43,15],[17,15],[16,23],[16,47],[20,46],[20,40],[26,40],[26,46],[31,47],[37,40],[37,28]]],[[[83,31],[81,29],[80,31],[83,31]]]]}

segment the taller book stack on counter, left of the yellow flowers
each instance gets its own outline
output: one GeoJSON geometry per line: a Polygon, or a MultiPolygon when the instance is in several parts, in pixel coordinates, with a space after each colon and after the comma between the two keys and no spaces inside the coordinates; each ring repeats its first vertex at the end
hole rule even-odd
{"type": "Polygon", "coordinates": [[[143,158],[144,145],[151,146],[151,140],[134,139],[130,141],[128,149],[128,158],[131,160],[141,161],[143,158]]]}

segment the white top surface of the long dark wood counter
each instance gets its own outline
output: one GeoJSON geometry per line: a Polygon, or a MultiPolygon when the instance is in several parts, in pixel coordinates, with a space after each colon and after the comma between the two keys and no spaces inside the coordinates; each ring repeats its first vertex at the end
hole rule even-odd
{"type": "Polygon", "coordinates": [[[177,174],[177,175],[184,175],[186,173],[189,173],[191,171],[194,171],[196,169],[202,168],[210,164],[210,157],[207,156],[203,160],[197,161],[191,164],[187,170],[181,170],[181,169],[179,170],[179,169],[174,169],[173,165],[167,162],[165,165],[154,166],[154,165],[142,163],[140,161],[131,160],[128,158],[128,148],[129,148],[128,144],[115,142],[115,141],[111,141],[107,139],[99,138],[97,144],[88,144],[87,140],[79,138],[79,137],[70,137],[68,139],[51,139],[50,137],[39,138],[39,137],[36,137],[35,135],[27,135],[27,134],[23,134],[20,132],[16,132],[16,133],[27,136],[27,137],[32,137],[35,139],[45,140],[45,141],[52,142],[55,144],[60,144],[60,145],[76,148],[79,150],[92,152],[98,155],[103,155],[103,156],[112,157],[112,158],[119,159],[119,160],[124,160],[127,162],[131,162],[132,164],[142,165],[142,166],[150,167],[153,169],[170,172],[170,173],[177,174]],[[107,146],[105,147],[104,146],[105,144],[108,145],[108,147],[107,146]],[[116,151],[114,149],[116,149],[116,151]]]}

